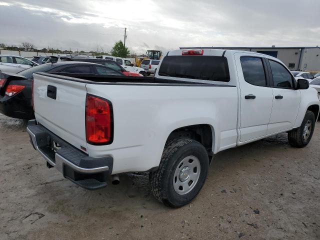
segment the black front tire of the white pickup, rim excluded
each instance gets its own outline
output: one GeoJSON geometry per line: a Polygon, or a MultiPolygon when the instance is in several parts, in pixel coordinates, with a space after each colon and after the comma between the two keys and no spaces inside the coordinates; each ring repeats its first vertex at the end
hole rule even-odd
{"type": "Polygon", "coordinates": [[[311,140],[315,124],[315,117],[312,111],[307,110],[301,125],[298,128],[294,128],[288,132],[289,144],[293,147],[304,147],[311,140]],[[310,122],[311,126],[307,137],[303,137],[303,130],[305,125],[310,122]]]}

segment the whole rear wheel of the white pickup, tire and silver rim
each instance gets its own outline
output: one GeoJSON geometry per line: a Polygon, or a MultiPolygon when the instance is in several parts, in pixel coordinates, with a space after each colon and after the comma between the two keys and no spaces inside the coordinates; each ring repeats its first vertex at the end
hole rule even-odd
{"type": "Polygon", "coordinates": [[[159,167],[149,174],[154,197],[170,207],[189,203],[201,190],[208,166],[208,155],[201,143],[190,138],[169,140],[159,167]]]}

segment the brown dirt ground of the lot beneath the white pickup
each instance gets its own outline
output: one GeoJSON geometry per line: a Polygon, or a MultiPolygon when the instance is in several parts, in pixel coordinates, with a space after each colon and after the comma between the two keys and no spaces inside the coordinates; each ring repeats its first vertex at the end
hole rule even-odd
{"type": "Polygon", "coordinates": [[[20,120],[0,115],[0,239],[319,239],[320,124],[218,153],[189,205],[157,202],[146,174],[88,191],[48,169],[20,120]]]}

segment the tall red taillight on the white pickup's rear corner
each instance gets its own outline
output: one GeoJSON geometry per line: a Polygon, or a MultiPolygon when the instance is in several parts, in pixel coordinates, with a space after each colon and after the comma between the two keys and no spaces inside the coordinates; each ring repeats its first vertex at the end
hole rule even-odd
{"type": "Polygon", "coordinates": [[[86,95],[85,135],[86,142],[93,145],[112,143],[113,119],[110,101],[97,96],[86,95]]]}

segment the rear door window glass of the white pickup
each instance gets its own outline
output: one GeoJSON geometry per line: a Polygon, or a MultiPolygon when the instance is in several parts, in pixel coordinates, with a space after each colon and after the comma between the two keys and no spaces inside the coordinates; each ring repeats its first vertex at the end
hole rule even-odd
{"type": "Polygon", "coordinates": [[[266,86],[265,71],[261,58],[241,56],[240,62],[246,82],[256,86],[266,86]]]}

